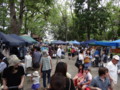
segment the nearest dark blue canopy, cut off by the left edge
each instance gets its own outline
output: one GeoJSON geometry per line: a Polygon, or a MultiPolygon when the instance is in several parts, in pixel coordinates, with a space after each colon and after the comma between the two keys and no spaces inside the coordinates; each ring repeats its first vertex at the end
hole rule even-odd
{"type": "Polygon", "coordinates": [[[24,43],[20,40],[17,40],[15,38],[12,38],[9,35],[6,35],[2,32],[0,32],[0,40],[2,40],[3,43],[5,43],[8,46],[21,46],[24,45],[24,43]]]}

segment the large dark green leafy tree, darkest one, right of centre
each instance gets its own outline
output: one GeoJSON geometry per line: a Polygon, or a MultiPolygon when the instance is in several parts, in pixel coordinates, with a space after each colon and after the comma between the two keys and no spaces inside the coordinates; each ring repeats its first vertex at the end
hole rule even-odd
{"type": "Polygon", "coordinates": [[[75,27],[81,35],[80,40],[89,40],[102,35],[106,30],[108,13],[100,5],[100,0],[76,0],[75,2],[75,27]]]}

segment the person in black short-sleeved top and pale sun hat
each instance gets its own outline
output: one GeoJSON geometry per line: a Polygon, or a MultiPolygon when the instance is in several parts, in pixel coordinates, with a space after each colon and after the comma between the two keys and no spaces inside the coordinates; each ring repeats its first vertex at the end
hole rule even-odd
{"type": "Polygon", "coordinates": [[[20,60],[16,55],[11,55],[8,58],[9,66],[3,71],[3,89],[8,90],[9,87],[17,86],[12,90],[19,90],[23,88],[25,72],[20,66],[20,60]]]}

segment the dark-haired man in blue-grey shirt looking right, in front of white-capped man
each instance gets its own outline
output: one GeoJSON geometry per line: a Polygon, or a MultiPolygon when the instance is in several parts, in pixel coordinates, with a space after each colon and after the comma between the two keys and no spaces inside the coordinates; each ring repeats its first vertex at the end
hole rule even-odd
{"type": "Polygon", "coordinates": [[[90,84],[91,90],[113,90],[108,77],[108,69],[100,67],[98,74],[99,76],[94,77],[90,84]]]}

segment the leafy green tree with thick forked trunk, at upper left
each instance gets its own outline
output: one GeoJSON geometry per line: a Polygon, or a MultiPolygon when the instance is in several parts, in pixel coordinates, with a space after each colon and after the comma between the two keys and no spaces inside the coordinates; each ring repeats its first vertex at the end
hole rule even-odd
{"type": "Polygon", "coordinates": [[[20,34],[28,30],[38,33],[39,30],[36,27],[41,28],[39,24],[42,23],[42,26],[47,21],[52,2],[53,0],[1,0],[0,9],[5,10],[1,11],[4,17],[1,16],[0,21],[8,23],[8,26],[5,23],[2,26],[8,27],[9,33],[20,34]],[[5,19],[6,16],[10,16],[8,17],[10,21],[5,19]],[[34,31],[35,29],[37,31],[34,31]]]}

